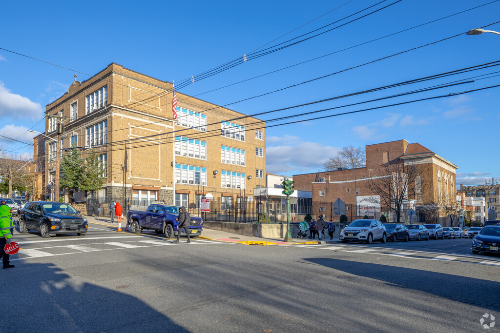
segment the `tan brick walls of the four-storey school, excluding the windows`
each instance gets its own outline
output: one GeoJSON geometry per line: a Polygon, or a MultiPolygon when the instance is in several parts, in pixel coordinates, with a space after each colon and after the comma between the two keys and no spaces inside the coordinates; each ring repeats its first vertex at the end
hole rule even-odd
{"type": "MultiPolygon", "coordinates": [[[[173,122],[172,122],[172,84],[153,77],[123,68],[111,63],[104,70],[95,74],[86,81],[75,81],[68,92],[46,106],[47,115],[57,115],[62,111],[64,117],[63,148],[70,146],[73,135],[77,136],[77,147],[82,154],[95,150],[99,155],[107,154],[107,172],[103,188],[106,196],[121,193],[123,186],[123,172],[127,193],[134,190],[134,186],[154,187],[160,189],[159,199],[171,202],[173,190],[173,122]],[[99,79],[101,78],[101,79],[99,79]],[[95,110],[86,108],[86,96],[103,87],[107,87],[107,100],[102,105],[97,104],[95,110]],[[76,120],[71,120],[71,104],[76,103],[76,120]],[[92,148],[87,145],[86,128],[106,121],[107,144],[98,144],[92,148]],[[166,133],[166,134],[165,134],[166,133]],[[110,189],[112,188],[112,190],[110,189]]],[[[103,91],[103,90],[101,90],[103,91]]],[[[103,92],[104,93],[104,92],[103,92]]],[[[241,113],[215,104],[176,92],[177,107],[195,113],[201,113],[206,118],[205,130],[181,126],[182,112],[177,112],[179,123],[175,123],[175,135],[206,143],[205,158],[195,158],[194,155],[175,156],[178,165],[206,168],[206,185],[204,193],[219,196],[220,193],[234,193],[250,195],[258,184],[255,169],[262,169],[265,174],[265,130],[262,131],[262,140],[255,138],[254,128],[264,126],[256,118],[233,120],[232,123],[245,126],[244,141],[221,136],[221,120],[230,120],[244,116],[241,113]],[[212,124],[215,123],[215,124],[212,124]],[[210,125],[212,124],[212,125],[210,125]],[[241,164],[221,163],[221,145],[245,151],[244,166],[241,164]],[[255,147],[262,148],[262,157],[255,155],[255,147]],[[222,188],[222,170],[237,172],[241,177],[244,173],[244,189],[237,187],[222,188]],[[213,171],[217,174],[213,175],[213,171]],[[247,179],[251,176],[251,179],[247,179]]],[[[100,95],[99,95],[100,97],[100,95]]],[[[46,134],[55,138],[55,131],[49,129],[49,117],[46,119],[46,134]]],[[[49,152],[46,141],[46,152],[49,152]]],[[[200,143],[201,144],[201,143],[200,143]]],[[[45,181],[50,181],[50,171],[54,171],[55,162],[46,162],[45,181]]],[[[201,192],[201,184],[199,184],[201,192]]],[[[177,193],[188,193],[189,200],[194,199],[198,192],[197,184],[175,184],[177,193]]],[[[146,191],[146,190],[144,190],[146,191]]]]}

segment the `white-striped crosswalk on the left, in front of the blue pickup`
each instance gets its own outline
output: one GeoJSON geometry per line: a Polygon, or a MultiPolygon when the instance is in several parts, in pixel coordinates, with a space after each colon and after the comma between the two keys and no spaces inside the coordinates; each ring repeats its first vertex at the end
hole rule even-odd
{"type": "MultiPolygon", "coordinates": [[[[202,239],[191,240],[190,244],[184,244],[185,239],[181,240],[181,242],[179,244],[173,243],[173,240],[134,240],[134,241],[122,240],[119,242],[114,242],[114,241],[110,241],[109,239],[106,239],[106,240],[104,240],[104,242],[99,242],[99,243],[90,243],[90,244],[82,244],[82,245],[47,246],[47,245],[51,244],[49,242],[50,241],[47,241],[47,242],[43,242],[43,241],[24,242],[24,244],[23,244],[23,242],[19,242],[21,249],[15,255],[10,257],[10,261],[31,259],[31,258],[71,255],[71,254],[93,252],[93,251],[123,250],[123,249],[134,249],[134,248],[148,248],[148,247],[156,247],[156,246],[170,246],[170,245],[193,246],[193,245],[203,245],[203,244],[205,244],[205,245],[206,244],[228,244],[228,243],[223,243],[223,242],[216,242],[216,241],[209,241],[209,240],[202,240],[202,239]],[[29,244],[29,243],[40,243],[40,245],[43,245],[43,247],[35,247],[32,249],[24,248],[24,246],[29,244]]],[[[32,245],[32,244],[29,244],[29,245],[32,245]]]]}

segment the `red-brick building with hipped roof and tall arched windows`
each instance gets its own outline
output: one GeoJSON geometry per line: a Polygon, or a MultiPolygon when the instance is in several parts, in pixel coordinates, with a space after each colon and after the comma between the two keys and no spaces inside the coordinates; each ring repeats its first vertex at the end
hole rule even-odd
{"type": "MultiPolygon", "coordinates": [[[[355,218],[364,209],[372,212],[387,211],[387,208],[378,204],[369,204],[366,199],[378,195],[372,193],[366,183],[369,179],[380,177],[377,170],[381,170],[390,164],[415,164],[419,167],[419,175],[414,184],[414,197],[408,198],[403,203],[406,212],[409,208],[423,208],[434,199],[436,190],[443,193],[447,198],[453,198],[455,189],[455,164],[436,154],[419,143],[408,143],[406,140],[384,142],[367,145],[365,147],[366,163],[365,167],[356,169],[328,170],[317,173],[293,175],[296,189],[302,191],[312,191],[312,201],[321,201],[325,205],[340,198],[346,204],[346,210],[351,207],[361,206],[354,213],[346,212],[346,216],[355,218]],[[373,207],[368,207],[373,205],[373,207]]],[[[329,207],[321,207],[321,210],[328,212],[329,207]]],[[[376,214],[378,215],[378,214],[376,214]]],[[[418,221],[425,222],[429,217],[425,216],[423,209],[418,212],[418,221]]],[[[449,224],[444,216],[439,217],[438,223],[449,224]]],[[[413,220],[414,221],[414,220],[413,220]]]]}

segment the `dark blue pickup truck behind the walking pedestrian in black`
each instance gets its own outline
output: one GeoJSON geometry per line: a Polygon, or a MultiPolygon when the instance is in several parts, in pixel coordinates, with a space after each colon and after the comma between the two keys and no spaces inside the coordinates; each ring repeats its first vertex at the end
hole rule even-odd
{"type": "MultiPolygon", "coordinates": [[[[145,211],[129,210],[126,219],[130,224],[130,231],[134,234],[140,233],[142,229],[154,230],[156,234],[165,234],[166,238],[177,236],[179,214],[178,206],[163,204],[150,204],[145,211]]],[[[189,235],[196,238],[203,230],[203,220],[191,215],[189,224],[189,235]]],[[[185,232],[180,234],[186,236],[185,232]]]]}

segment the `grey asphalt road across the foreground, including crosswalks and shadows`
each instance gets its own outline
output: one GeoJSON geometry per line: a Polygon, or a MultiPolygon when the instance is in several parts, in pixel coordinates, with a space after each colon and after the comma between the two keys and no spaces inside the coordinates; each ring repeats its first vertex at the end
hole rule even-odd
{"type": "Polygon", "coordinates": [[[115,226],[90,224],[85,237],[16,233],[24,254],[2,270],[2,328],[478,332],[485,313],[500,319],[500,258],[456,252],[471,240],[187,245],[115,226]]]}

